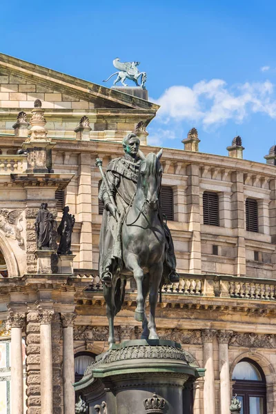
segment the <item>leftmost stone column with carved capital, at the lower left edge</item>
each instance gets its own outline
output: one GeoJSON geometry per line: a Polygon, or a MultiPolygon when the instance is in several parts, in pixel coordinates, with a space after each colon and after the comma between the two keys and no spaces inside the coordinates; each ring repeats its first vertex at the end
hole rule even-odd
{"type": "Polygon", "coordinates": [[[23,414],[23,358],[21,329],[25,324],[25,313],[14,313],[10,311],[8,324],[11,327],[12,414],[23,414]]]}

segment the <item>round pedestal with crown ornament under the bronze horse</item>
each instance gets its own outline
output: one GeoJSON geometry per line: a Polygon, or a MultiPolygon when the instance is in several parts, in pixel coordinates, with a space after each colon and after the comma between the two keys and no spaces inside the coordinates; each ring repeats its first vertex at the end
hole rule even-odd
{"type": "MultiPolygon", "coordinates": [[[[164,413],[184,411],[184,386],[204,375],[180,344],[166,340],[139,339],[112,345],[86,369],[75,384],[93,412],[96,404],[107,404],[108,414],[146,413],[144,400],[154,393],[165,400],[164,413]]],[[[163,411],[160,411],[163,412],[163,411]]]]}

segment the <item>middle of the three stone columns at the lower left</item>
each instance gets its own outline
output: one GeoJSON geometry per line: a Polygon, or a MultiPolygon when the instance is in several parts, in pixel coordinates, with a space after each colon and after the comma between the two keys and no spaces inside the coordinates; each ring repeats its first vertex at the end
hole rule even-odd
{"type": "Polygon", "coordinates": [[[54,311],[39,308],[41,414],[52,414],[52,329],[54,311]]]}

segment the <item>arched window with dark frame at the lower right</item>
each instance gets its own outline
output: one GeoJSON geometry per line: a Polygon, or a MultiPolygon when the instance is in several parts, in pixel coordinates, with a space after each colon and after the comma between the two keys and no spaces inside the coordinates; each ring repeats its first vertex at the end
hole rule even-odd
{"type": "Polygon", "coordinates": [[[244,358],[235,366],[233,394],[242,402],[241,414],[266,414],[266,377],[255,361],[244,358]]]}

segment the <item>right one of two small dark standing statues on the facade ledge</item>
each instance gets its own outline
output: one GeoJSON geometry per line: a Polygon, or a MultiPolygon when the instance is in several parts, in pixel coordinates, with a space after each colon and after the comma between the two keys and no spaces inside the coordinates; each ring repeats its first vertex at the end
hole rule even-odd
{"type": "Polygon", "coordinates": [[[69,207],[66,206],[63,208],[63,216],[61,223],[57,228],[57,233],[60,235],[61,239],[59,242],[59,248],[57,250],[58,255],[72,255],[71,249],[71,239],[72,231],[75,225],[75,216],[69,214],[69,207]]]}

